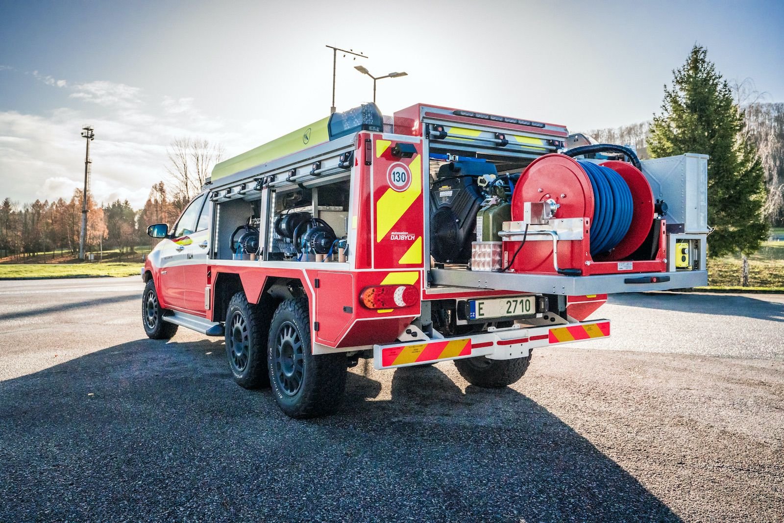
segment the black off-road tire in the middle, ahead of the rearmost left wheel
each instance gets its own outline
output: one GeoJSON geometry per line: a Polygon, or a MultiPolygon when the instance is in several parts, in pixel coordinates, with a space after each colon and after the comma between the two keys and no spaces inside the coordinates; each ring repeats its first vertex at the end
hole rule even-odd
{"type": "Polygon", "coordinates": [[[224,325],[226,358],[231,375],[240,387],[269,387],[265,357],[269,325],[262,307],[248,302],[245,292],[231,296],[224,325]]]}

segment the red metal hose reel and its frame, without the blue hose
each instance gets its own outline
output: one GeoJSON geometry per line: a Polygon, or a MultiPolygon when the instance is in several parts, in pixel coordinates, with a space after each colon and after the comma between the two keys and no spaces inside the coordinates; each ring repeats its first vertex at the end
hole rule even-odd
{"type": "MultiPolygon", "coordinates": [[[[596,260],[590,255],[590,230],[595,208],[593,186],[583,167],[565,154],[546,154],[535,159],[524,170],[512,194],[512,221],[524,220],[525,202],[551,200],[558,205],[553,219],[546,225],[529,226],[529,231],[557,229],[558,220],[564,219],[581,218],[584,226],[581,240],[558,240],[558,267],[572,271],[579,270],[580,274],[666,271],[663,220],[659,220],[659,230],[655,231],[655,234],[659,234],[659,245],[655,256],[648,260],[629,260],[633,252],[644,244],[654,224],[654,198],[648,180],[630,163],[609,160],[601,163],[601,166],[612,169],[622,177],[631,191],[633,200],[630,227],[620,242],[609,252],[597,255],[596,260]]],[[[519,238],[519,234],[515,238],[519,238]]],[[[536,232],[528,235],[522,249],[514,258],[510,270],[553,273],[555,271],[554,244],[551,241],[543,241],[547,239],[549,238],[544,238],[543,234],[536,232]]],[[[504,242],[504,263],[512,259],[519,246],[520,242],[517,241],[504,242]]]]}

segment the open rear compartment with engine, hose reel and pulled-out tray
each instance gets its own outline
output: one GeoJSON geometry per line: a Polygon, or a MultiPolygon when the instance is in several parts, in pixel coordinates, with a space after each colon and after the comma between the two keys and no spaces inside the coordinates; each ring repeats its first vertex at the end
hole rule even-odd
{"type": "Polygon", "coordinates": [[[705,155],[570,151],[562,125],[421,104],[394,125],[425,137],[429,287],[584,296],[706,285],[708,228],[679,219],[705,216],[705,155]],[[667,172],[681,165],[681,178],[667,172]]]}

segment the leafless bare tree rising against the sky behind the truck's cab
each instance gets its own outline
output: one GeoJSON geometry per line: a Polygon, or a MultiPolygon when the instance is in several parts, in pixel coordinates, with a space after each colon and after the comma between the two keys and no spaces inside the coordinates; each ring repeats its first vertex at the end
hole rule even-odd
{"type": "Polygon", "coordinates": [[[166,152],[169,156],[166,171],[174,183],[174,201],[187,204],[201,191],[212,166],[220,162],[223,146],[204,138],[176,138],[166,152]]]}

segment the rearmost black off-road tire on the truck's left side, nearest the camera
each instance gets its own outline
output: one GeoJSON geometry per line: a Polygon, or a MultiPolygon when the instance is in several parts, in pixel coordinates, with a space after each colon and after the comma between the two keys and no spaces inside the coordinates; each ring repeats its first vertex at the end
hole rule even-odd
{"type": "Polygon", "coordinates": [[[267,369],[275,401],[287,416],[325,416],[343,401],[348,359],[343,353],[313,354],[307,298],[285,300],[275,311],[267,369]]]}

